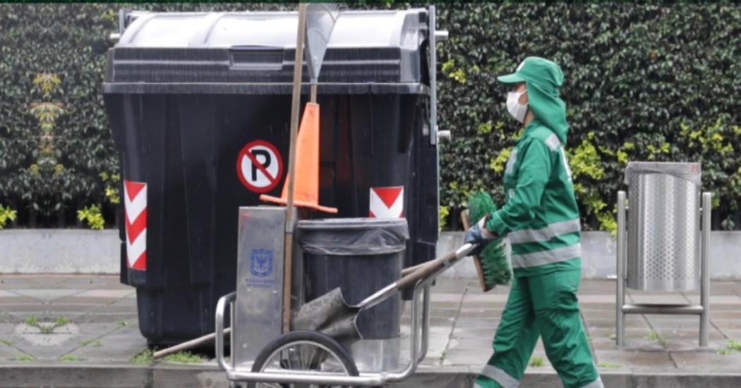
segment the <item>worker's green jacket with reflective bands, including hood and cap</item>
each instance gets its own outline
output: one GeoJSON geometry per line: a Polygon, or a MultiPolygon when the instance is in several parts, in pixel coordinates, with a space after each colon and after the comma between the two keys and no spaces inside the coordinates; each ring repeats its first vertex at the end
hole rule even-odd
{"type": "Polygon", "coordinates": [[[579,208],[564,151],[566,105],[559,97],[563,72],[554,62],[528,57],[516,72],[498,79],[505,85],[526,84],[535,119],[505,167],[507,202],[491,214],[486,228],[508,236],[514,276],[579,269],[579,208]]]}

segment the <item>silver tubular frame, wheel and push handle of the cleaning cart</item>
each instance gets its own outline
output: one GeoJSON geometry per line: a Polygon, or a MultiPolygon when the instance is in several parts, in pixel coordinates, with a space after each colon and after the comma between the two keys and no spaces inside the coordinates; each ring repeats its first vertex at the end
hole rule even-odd
{"type": "MultiPolygon", "coordinates": [[[[216,304],[216,361],[219,367],[225,370],[227,379],[233,383],[260,383],[256,384],[256,387],[285,387],[284,384],[376,387],[403,381],[413,375],[417,365],[427,354],[432,282],[445,270],[451,268],[454,263],[468,256],[473,248],[471,244],[464,244],[458,250],[428,262],[399,281],[378,290],[359,304],[347,306],[350,315],[354,315],[354,313],[383,302],[400,290],[413,287],[409,363],[402,369],[360,373],[355,361],[342,345],[331,336],[313,330],[299,330],[283,334],[270,341],[253,364],[235,365],[233,358],[231,358],[232,361],[227,361],[225,357],[224,317],[227,305],[230,311],[234,311],[236,293],[222,296],[216,304]]],[[[348,314],[344,317],[347,319],[348,314]]],[[[233,319],[231,324],[233,331],[240,330],[239,327],[233,326],[233,319]]],[[[230,338],[234,337],[230,336],[230,338]]],[[[232,346],[231,349],[234,347],[232,346]]]]}

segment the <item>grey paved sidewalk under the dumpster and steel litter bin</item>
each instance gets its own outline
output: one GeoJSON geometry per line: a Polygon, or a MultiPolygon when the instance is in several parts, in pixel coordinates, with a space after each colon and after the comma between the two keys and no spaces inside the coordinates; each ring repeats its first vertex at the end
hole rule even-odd
{"type": "MultiPolygon", "coordinates": [[[[491,355],[508,287],[482,293],[471,280],[442,279],[432,290],[428,357],[413,380],[395,387],[470,387],[491,355]]],[[[606,387],[741,387],[741,352],[728,348],[728,340],[741,341],[741,282],[711,286],[707,349],[697,347],[697,317],[652,315],[628,316],[627,346],[617,347],[614,293],[609,281],[582,282],[579,293],[606,387]]],[[[698,299],[628,291],[638,303],[698,299]]],[[[402,323],[406,336],[408,316],[402,323]]],[[[118,276],[0,276],[0,387],[224,387],[213,360],[132,362],[145,348],[135,290],[118,276]],[[44,329],[51,321],[57,327],[44,329]]],[[[542,344],[534,358],[542,366],[528,368],[522,387],[559,387],[542,344]]]]}

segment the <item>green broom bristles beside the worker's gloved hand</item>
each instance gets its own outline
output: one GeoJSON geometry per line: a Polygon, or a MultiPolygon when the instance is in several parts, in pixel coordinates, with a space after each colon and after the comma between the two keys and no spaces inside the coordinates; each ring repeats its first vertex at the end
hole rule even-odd
{"type": "MultiPolygon", "coordinates": [[[[471,225],[496,211],[491,195],[481,191],[468,199],[468,221],[471,225]]],[[[512,279],[512,269],[502,238],[494,239],[479,253],[484,282],[487,286],[506,285],[512,279]]]]}

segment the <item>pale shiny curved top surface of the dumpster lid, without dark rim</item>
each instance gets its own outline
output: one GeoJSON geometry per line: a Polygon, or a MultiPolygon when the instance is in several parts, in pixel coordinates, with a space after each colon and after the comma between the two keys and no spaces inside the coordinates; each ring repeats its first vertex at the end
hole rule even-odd
{"type": "MultiPolygon", "coordinates": [[[[342,10],[328,48],[408,47],[416,49],[419,13],[411,10],[342,10]],[[413,18],[408,20],[409,16],[413,18]]],[[[292,12],[149,13],[136,11],[116,47],[296,48],[299,14],[292,12]]],[[[426,20],[426,19],[425,19],[426,20]]],[[[425,21],[422,20],[422,21],[425,21]]]]}

